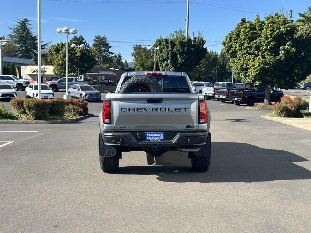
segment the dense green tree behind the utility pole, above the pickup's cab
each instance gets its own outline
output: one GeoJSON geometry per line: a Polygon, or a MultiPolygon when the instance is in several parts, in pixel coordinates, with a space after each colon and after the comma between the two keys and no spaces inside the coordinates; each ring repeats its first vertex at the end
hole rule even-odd
{"type": "Polygon", "coordinates": [[[156,60],[160,70],[190,72],[205,57],[207,49],[201,33],[186,37],[182,30],[155,41],[156,60]]]}

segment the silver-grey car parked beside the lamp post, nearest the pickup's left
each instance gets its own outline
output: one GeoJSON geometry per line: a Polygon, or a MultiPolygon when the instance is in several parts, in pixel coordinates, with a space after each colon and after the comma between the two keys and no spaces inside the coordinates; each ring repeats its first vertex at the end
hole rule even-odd
{"type": "Polygon", "coordinates": [[[94,89],[88,84],[75,84],[69,87],[68,94],[71,98],[81,98],[84,100],[96,100],[100,102],[102,99],[101,92],[94,89]]]}

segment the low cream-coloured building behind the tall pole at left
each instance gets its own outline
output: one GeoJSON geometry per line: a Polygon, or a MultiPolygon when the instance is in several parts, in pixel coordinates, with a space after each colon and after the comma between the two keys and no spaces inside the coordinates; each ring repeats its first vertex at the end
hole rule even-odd
{"type": "MultiPolygon", "coordinates": [[[[41,77],[43,83],[61,78],[60,75],[54,74],[53,69],[54,67],[51,65],[41,66],[41,77]]],[[[38,66],[21,66],[21,76],[23,79],[28,79],[30,83],[37,82],[38,66]]]]}

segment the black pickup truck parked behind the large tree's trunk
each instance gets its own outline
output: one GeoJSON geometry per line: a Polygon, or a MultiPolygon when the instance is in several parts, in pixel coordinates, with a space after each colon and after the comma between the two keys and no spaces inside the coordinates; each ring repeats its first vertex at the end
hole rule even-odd
{"type": "MultiPolygon", "coordinates": [[[[233,89],[230,91],[230,98],[235,105],[246,103],[248,106],[253,106],[255,102],[264,101],[264,87],[255,87],[253,89],[233,89]]],[[[284,96],[280,90],[270,89],[271,102],[279,102],[284,96]]]]}

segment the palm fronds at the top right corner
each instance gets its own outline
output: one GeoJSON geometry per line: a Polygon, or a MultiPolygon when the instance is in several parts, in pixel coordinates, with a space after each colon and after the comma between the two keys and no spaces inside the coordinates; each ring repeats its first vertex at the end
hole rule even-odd
{"type": "Polygon", "coordinates": [[[311,38],[311,6],[304,13],[299,13],[300,19],[296,21],[296,37],[311,38]]]}

